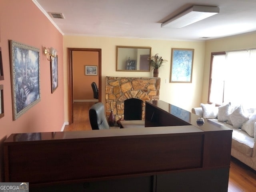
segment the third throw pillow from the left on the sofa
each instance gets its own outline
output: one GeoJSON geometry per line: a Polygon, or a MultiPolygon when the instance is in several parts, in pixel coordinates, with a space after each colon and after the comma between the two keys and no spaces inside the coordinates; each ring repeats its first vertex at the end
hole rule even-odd
{"type": "Polygon", "coordinates": [[[240,128],[244,122],[249,120],[249,118],[244,115],[242,106],[236,108],[236,110],[230,114],[229,118],[234,128],[240,128]]]}

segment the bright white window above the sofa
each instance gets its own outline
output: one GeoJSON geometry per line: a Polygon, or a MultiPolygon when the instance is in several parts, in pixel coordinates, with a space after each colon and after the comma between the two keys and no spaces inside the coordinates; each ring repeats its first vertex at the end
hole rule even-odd
{"type": "Polygon", "coordinates": [[[208,102],[256,106],[256,50],[212,53],[208,102]]]}

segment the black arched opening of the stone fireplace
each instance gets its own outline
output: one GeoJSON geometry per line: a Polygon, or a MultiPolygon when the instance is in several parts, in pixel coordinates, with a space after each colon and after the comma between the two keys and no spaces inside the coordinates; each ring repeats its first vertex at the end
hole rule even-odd
{"type": "Polygon", "coordinates": [[[124,120],[142,120],[143,101],[136,98],[124,101],[124,120]]]}

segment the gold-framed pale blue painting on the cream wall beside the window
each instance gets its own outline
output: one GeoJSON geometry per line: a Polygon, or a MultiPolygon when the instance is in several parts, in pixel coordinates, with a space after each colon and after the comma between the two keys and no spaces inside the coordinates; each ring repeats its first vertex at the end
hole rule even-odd
{"type": "Polygon", "coordinates": [[[170,82],[191,83],[194,49],[172,48],[170,82]]]}

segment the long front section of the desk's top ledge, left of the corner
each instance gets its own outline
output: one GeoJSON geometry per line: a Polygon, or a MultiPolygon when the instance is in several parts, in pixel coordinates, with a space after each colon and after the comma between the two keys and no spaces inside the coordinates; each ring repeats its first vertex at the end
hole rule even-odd
{"type": "Polygon", "coordinates": [[[11,134],[4,143],[17,142],[36,142],[36,141],[64,141],[67,140],[78,140],[78,139],[114,139],[120,138],[139,138],[139,137],[151,137],[156,135],[171,136],[173,134],[193,134],[203,132],[199,128],[194,126],[164,126],[164,127],[140,127],[127,129],[110,129],[110,130],[90,130],[90,131],[68,131],[68,132],[40,132],[40,133],[19,133],[11,134]],[[170,135],[169,135],[170,134],[170,135]]]}

